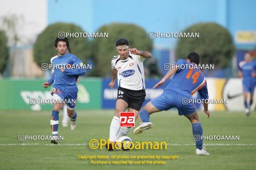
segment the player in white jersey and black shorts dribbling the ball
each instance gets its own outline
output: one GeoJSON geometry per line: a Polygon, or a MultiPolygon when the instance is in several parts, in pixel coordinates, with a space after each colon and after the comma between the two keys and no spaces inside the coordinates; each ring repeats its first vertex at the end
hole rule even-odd
{"type": "Polygon", "coordinates": [[[128,108],[129,112],[135,112],[135,118],[137,118],[139,110],[145,101],[146,92],[143,61],[146,58],[152,57],[152,54],[148,51],[129,48],[129,40],[125,38],[119,38],[115,45],[119,55],[113,56],[111,60],[112,80],[109,86],[111,88],[115,86],[115,77],[117,75],[118,88],[115,113],[110,124],[110,142],[106,145],[109,151],[113,150],[116,139],[128,134],[131,130],[131,127],[120,128],[120,112],[128,108]]]}

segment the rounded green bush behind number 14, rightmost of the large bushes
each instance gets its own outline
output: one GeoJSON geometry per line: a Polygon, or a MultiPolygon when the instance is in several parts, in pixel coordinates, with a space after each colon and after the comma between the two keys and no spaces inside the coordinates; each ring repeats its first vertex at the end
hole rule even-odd
{"type": "Polygon", "coordinates": [[[214,68],[230,66],[235,47],[225,27],[213,22],[197,23],[183,32],[199,32],[199,38],[179,38],[176,57],[184,59],[188,53],[195,51],[200,54],[201,64],[214,64],[214,68]]]}

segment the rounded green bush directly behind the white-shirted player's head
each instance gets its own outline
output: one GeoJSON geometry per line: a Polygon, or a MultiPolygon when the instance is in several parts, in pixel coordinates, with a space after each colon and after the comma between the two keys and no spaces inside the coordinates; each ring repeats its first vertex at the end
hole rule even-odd
{"type": "Polygon", "coordinates": [[[115,42],[118,38],[129,39],[130,47],[151,51],[153,42],[140,26],[130,23],[111,23],[101,26],[97,32],[108,32],[107,38],[94,38],[92,56],[94,61],[91,76],[110,76],[111,58],[118,55],[115,42]]]}

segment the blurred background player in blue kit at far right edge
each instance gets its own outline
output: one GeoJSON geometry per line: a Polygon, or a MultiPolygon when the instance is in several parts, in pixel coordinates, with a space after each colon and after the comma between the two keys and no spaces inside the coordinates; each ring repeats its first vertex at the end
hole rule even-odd
{"type": "Polygon", "coordinates": [[[253,92],[255,86],[255,62],[252,61],[249,52],[245,52],[244,60],[239,62],[239,76],[242,77],[242,90],[244,98],[245,113],[250,115],[250,106],[253,102],[253,92]],[[247,103],[247,93],[250,94],[249,106],[247,103]]]}

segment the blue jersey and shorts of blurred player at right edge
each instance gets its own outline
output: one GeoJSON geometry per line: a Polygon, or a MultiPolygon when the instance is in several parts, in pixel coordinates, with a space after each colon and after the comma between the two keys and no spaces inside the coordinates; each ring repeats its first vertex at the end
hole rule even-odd
{"type": "Polygon", "coordinates": [[[242,85],[244,92],[254,92],[255,79],[252,73],[255,72],[255,62],[241,61],[238,66],[239,70],[242,72],[242,85]]]}

